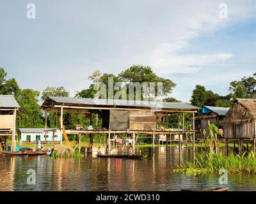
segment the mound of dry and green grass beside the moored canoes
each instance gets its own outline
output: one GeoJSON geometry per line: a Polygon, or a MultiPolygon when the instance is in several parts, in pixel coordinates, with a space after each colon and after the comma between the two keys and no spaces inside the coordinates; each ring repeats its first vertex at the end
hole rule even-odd
{"type": "Polygon", "coordinates": [[[54,149],[52,150],[52,153],[50,154],[51,158],[80,158],[83,157],[83,154],[79,153],[79,152],[75,152],[74,149],[72,149],[71,147],[67,147],[67,146],[57,146],[54,147],[54,149]]]}

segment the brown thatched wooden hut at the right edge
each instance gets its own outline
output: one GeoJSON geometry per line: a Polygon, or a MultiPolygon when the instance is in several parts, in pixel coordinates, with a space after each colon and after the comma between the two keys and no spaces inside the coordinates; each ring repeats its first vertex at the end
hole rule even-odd
{"type": "Polygon", "coordinates": [[[225,138],[255,138],[256,99],[236,99],[223,122],[225,138]]]}

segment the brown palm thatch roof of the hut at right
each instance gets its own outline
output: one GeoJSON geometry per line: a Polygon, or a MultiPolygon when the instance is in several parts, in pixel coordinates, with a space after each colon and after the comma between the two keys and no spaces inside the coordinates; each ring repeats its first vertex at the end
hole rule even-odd
{"type": "Polygon", "coordinates": [[[223,121],[235,124],[256,121],[256,99],[236,99],[223,121]]]}

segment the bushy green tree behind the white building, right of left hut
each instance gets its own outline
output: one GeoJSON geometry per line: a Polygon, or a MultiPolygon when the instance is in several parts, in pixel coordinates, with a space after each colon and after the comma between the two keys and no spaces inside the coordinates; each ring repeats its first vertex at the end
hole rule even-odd
{"type": "Polygon", "coordinates": [[[33,89],[22,89],[17,102],[22,108],[21,113],[17,114],[17,127],[19,128],[43,128],[43,115],[38,105],[40,92],[33,89]]]}

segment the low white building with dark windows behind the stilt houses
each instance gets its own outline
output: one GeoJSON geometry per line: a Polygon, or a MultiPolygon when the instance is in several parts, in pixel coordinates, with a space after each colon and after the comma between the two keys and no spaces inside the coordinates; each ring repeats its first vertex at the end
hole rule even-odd
{"type": "MultiPolygon", "coordinates": [[[[52,128],[47,128],[47,130],[52,130],[52,128]]],[[[22,142],[35,142],[36,139],[40,140],[41,142],[45,142],[45,128],[19,128],[19,131],[21,133],[20,140],[22,142]]],[[[60,129],[54,131],[54,140],[52,138],[52,131],[47,131],[46,142],[60,142],[60,129]]]]}

